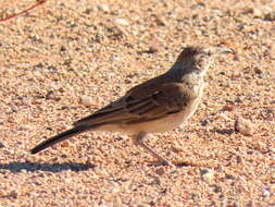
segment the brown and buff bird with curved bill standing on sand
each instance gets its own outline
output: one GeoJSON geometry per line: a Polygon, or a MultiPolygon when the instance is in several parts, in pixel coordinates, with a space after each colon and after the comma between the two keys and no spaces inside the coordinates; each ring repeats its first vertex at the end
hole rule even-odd
{"type": "Polygon", "coordinates": [[[73,123],[73,127],[38,144],[37,154],[57,143],[87,131],[124,132],[133,144],[157,158],[160,165],[172,165],[145,144],[150,133],[171,131],[195,113],[205,85],[204,75],[214,57],[232,52],[221,47],[187,46],[172,68],[129,89],[123,97],[73,123]]]}

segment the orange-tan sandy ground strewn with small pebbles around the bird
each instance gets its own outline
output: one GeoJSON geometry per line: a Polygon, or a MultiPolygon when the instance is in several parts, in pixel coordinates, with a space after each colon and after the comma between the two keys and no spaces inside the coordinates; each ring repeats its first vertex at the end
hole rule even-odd
{"type": "MultiPolygon", "coordinates": [[[[0,13],[35,1],[0,1],[0,13]]],[[[275,1],[48,0],[0,23],[0,206],[275,206],[275,1]],[[180,47],[223,46],[189,122],[147,143],[86,133],[32,156],[180,47]],[[89,107],[82,104],[87,99],[89,107]],[[249,133],[236,132],[237,118],[249,133]]]]}

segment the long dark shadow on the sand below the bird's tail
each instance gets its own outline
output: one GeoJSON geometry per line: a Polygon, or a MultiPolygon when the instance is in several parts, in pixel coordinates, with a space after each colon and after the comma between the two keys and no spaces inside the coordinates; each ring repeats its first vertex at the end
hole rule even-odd
{"type": "Polygon", "coordinates": [[[0,163],[1,170],[9,170],[11,172],[21,172],[22,170],[28,172],[36,171],[48,171],[48,172],[61,172],[61,171],[86,171],[95,168],[96,166],[91,163],[76,163],[76,162],[64,162],[64,163],[40,163],[40,162],[10,162],[10,163],[0,163]]]}

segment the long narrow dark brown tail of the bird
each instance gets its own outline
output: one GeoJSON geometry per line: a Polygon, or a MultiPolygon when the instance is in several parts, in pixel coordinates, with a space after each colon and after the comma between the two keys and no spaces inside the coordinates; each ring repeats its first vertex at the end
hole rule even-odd
{"type": "Polygon", "coordinates": [[[30,154],[37,154],[37,153],[39,153],[39,151],[41,151],[41,150],[43,150],[43,149],[46,149],[46,148],[48,148],[48,147],[57,144],[57,143],[60,143],[60,142],[62,142],[64,139],[67,139],[70,137],[72,137],[72,136],[80,134],[80,133],[83,133],[83,132],[85,132],[85,131],[87,131],[89,129],[90,127],[87,127],[87,126],[76,126],[76,127],[67,130],[65,132],[62,132],[62,133],[58,134],[57,136],[53,136],[53,137],[47,139],[47,141],[43,141],[42,143],[40,143],[39,145],[37,145],[35,148],[33,148],[30,150],[30,154]]]}

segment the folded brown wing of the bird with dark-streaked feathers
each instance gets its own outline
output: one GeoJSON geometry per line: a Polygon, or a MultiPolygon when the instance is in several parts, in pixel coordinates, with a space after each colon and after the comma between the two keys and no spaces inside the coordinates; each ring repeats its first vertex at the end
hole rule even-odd
{"type": "Polygon", "coordinates": [[[161,119],[179,112],[190,99],[178,83],[163,84],[154,92],[143,94],[146,96],[140,96],[141,93],[137,89],[129,90],[123,98],[75,122],[74,125],[134,124],[161,119]]]}

